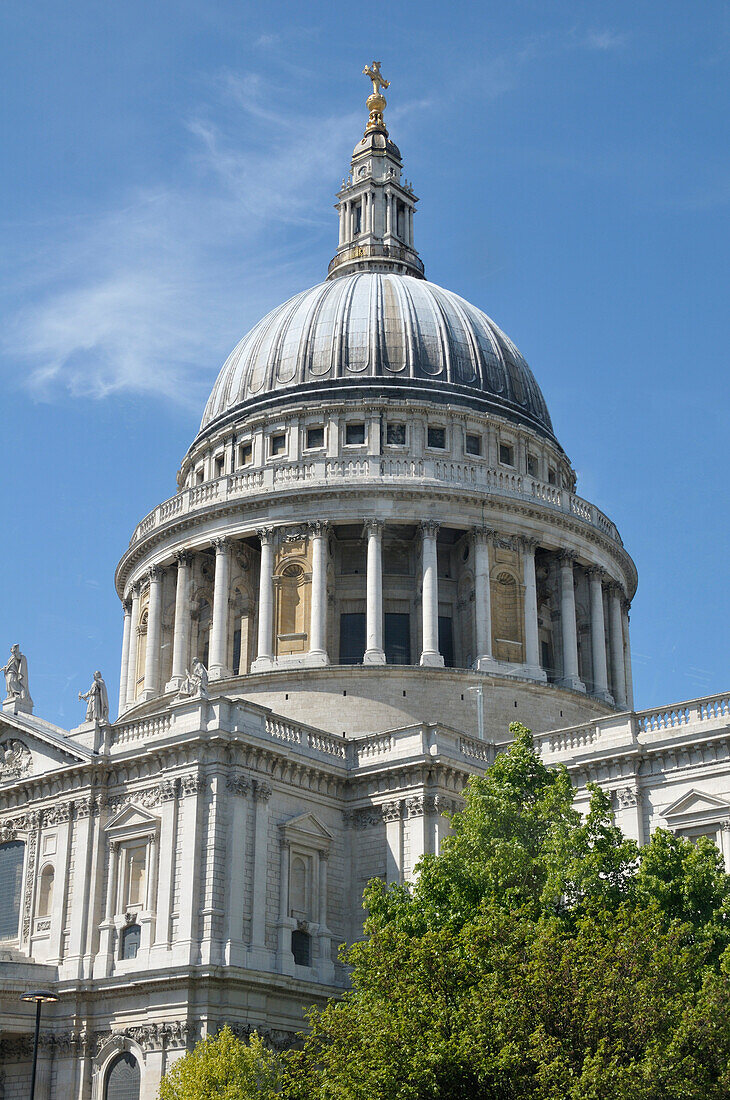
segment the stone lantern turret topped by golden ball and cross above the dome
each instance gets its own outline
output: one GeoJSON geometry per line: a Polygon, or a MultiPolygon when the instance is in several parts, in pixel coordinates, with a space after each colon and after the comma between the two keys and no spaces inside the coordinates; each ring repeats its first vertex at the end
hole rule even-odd
{"type": "Polygon", "coordinates": [[[338,193],[340,243],[328,277],[366,271],[423,278],[423,263],[413,245],[418,199],[402,175],[400,150],[389,140],[383,118],[381,89],[389,81],[380,73],[380,62],[366,65],[363,73],[373,81],[369,116],[353,151],[350,175],[338,193]]]}

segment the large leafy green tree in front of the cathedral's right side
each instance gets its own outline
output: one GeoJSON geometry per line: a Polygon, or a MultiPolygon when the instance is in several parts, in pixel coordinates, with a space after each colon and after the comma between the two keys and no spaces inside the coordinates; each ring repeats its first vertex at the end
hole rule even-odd
{"type": "Polygon", "coordinates": [[[524,727],[411,887],[372,882],[353,989],[310,1014],[292,1100],[730,1096],[730,880],[709,842],[644,848],[524,727]]]}

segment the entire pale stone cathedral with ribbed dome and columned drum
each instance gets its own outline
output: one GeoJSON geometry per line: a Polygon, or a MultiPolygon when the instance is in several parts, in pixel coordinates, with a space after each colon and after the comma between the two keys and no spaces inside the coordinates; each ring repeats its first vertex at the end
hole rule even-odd
{"type": "Polygon", "coordinates": [[[296,1042],[345,988],[366,882],[439,850],[515,719],[579,804],[597,781],[638,840],[711,835],[730,867],[730,696],[634,713],[633,562],[515,345],[424,279],[370,99],[328,279],[232,353],[120,561],[119,717],[34,716],[15,657],[7,1100],[27,1089],[27,988],[59,998],[40,1100],[102,1100],[118,1072],[153,1100],[224,1022],[296,1042]]]}

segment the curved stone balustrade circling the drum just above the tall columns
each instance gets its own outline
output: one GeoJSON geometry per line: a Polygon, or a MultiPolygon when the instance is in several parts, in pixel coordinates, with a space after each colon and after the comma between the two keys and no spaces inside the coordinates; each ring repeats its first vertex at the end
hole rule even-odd
{"type": "Polygon", "coordinates": [[[418,484],[461,485],[480,490],[495,496],[531,501],[556,512],[583,520],[620,546],[621,537],[608,516],[594,504],[576,496],[569,490],[558,488],[508,470],[484,466],[480,463],[452,462],[445,459],[395,459],[363,455],[351,459],[313,459],[299,462],[272,464],[262,470],[225,474],[214,481],[181,490],[176,496],[157,505],[137,524],[130,540],[135,546],[152,531],[165,524],[204,510],[211,505],[225,504],[243,498],[268,496],[287,485],[311,485],[317,488],[336,486],[342,482],[361,480],[363,484],[383,486],[398,482],[416,487],[418,484]]]}

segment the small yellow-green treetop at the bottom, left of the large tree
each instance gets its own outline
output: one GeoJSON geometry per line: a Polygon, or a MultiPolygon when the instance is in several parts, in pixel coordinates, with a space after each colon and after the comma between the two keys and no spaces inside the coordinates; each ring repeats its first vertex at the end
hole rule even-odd
{"type": "Polygon", "coordinates": [[[281,1069],[280,1056],[256,1032],[244,1042],[226,1026],[175,1063],[159,1086],[159,1100],[274,1100],[281,1069]]]}

